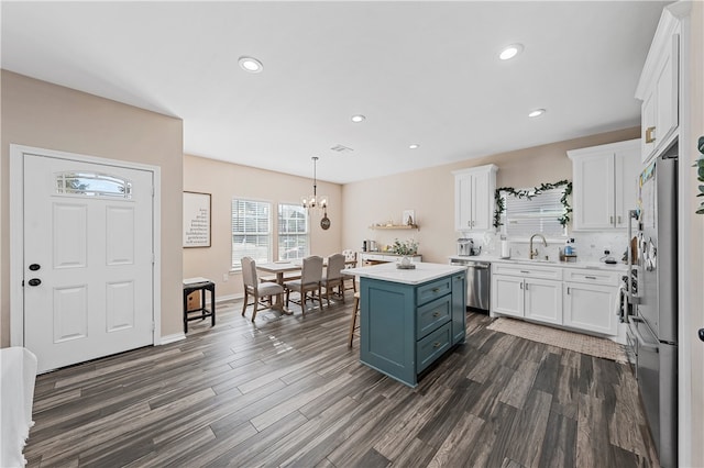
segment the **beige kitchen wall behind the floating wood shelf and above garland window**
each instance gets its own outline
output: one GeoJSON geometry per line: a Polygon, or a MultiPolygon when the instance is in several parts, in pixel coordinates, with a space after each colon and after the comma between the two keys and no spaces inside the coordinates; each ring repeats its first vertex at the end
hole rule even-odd
{"type": "Polygon", "coordinates": [[[447,263],[455,254],[454,177],[457,169],[495,164],[497,187],[529,188],[541,182],[572,180],[568,149],[638,138],[639,127],[603,133],[532,148],[501,153],[488,157],[416,170],[396,176],[348,183],[342,189],[344,247],[361,249],[362,241],[380,245],[395,238],[419,241],[424,261],[447,263]],[[527,164],[527,161],[530,161],[527,164]],[[374,223],[389,219],[400,223],[404,210],[415,210],[419,231],[370,230],[374,223]]]}

